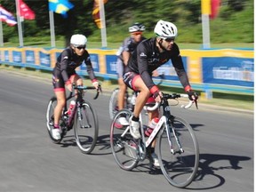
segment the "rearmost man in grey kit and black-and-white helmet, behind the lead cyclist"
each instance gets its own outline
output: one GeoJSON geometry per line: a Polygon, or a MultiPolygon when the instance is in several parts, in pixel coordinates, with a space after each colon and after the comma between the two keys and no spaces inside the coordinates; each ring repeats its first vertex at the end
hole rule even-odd
{"type": "MultiPolygon", "coordinates": [[[[123,75],[124,75],[124,67],[127,65],[128,60],[136,48],[136,46],[146,39],[142,36],[143,31],[145,30],[145,26],[140,24],[139,22],[134,23],[129,28],[130,36],[124,39],[122,46],[119,48],[118,52],[116,52],[117,60],[116,60],[116,72],[118,75],[118,84],[119,84],[119,92],[118,92],[118,110],[124,108],[124,96],[127,90],[126,84],[124,84],[123,75]]],[[[119,118],[119,123],[122,125],[129,125],[126,118],[121,116],[119,118]]]]}

